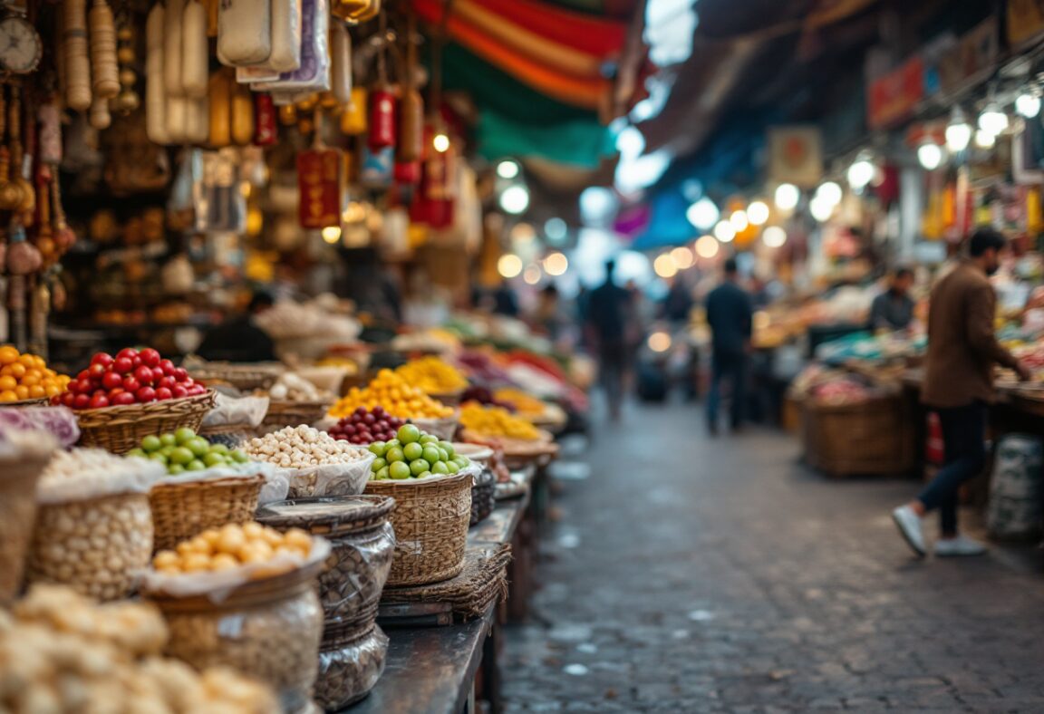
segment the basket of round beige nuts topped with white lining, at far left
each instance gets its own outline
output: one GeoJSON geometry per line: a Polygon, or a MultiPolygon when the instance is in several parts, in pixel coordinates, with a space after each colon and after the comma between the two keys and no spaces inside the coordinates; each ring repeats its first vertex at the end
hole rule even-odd
{"type": "Polygon", "coordinates": [[[152,554],[148,490],[164,475],[160,463],[100,449],[56,452],[37,484],[26,580],[100,600],[128,595],[152,554]]]}

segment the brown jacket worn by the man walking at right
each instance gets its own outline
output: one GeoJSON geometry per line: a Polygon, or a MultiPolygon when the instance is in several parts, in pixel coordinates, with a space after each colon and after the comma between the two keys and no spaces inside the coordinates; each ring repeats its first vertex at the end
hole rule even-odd
{"type": "Polygon", "coordinates": [[[925,404],[946,408],[993,401],[994,364],[1016,364],[994,335],[996,307],[993,285],[969,262],[955,267],[932,289],[921,395],[925,404]]]}

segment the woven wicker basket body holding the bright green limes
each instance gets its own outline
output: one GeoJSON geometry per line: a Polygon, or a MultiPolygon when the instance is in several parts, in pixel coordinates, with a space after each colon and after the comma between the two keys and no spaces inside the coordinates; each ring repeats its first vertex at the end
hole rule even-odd
{"type": "Polygon", "coordinates": [[[446,478],[370,481],[367,494],[392,496],[395,558],[387,587],[441,582],[460,574],[471,521],[470,473],[446,478]]]}

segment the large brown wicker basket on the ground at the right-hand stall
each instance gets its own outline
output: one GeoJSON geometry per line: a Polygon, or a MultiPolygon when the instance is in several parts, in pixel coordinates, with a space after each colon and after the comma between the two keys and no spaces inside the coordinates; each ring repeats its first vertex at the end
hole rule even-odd
{"type": "Polygon", "coordinates": [[[830,476],[896,475],[914,468],[912,415],[900,395],[854,404],[806,400],[801,407],[805,460],[830,476]]]}

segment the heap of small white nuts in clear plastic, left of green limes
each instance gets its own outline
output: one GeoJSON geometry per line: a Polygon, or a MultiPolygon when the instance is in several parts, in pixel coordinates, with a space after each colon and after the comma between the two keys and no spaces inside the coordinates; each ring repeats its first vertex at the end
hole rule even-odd
{"type": "Polygon", "coordinates": [[[278,467],[290,482],[290,498],[361,494],[375,458],[362,447],[304,424],[253,438],[243,451],[278,467]]]}

